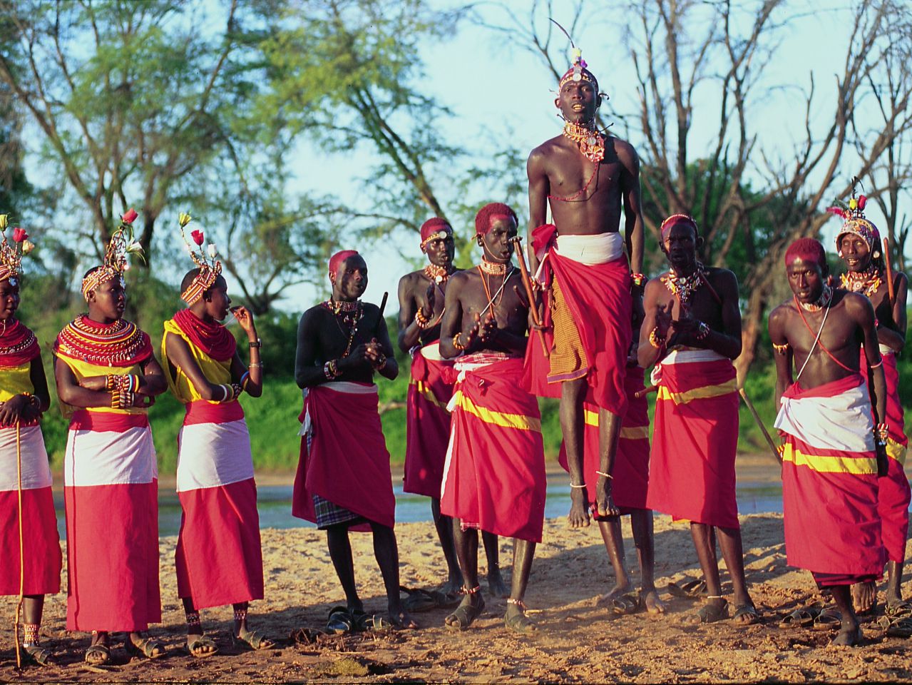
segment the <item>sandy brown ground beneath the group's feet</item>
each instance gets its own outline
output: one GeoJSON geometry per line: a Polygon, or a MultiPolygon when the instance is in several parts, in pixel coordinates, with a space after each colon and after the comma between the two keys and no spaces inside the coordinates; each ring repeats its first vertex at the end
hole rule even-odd
{"type": "MultiPolygon", "coordinates": [[[[312,529],[265,530],[263,534],[267,597],[254,603],[253,625],[278,640],[276,649],[239,651],[226,638],[230,607],[203,612],[204,627],[222,653],[198,660],[182,649],[183,615],[176,594],[173,553],[176,539],[161,540],[164,624],[152,628],[168,647],[163,659],[129,660],[115,649],[115,665],[87,669],[81,659],[88,635],[65,631],[66,597],[49,597],[43,633],[57,652],[55,668],[13,669],[14,600],[0,602],[0,680],[50,681],[845,681],[912,679],[912,642],[886,638],[873,623],[865,625],[865,645],[833,648],[830,633],[778,628],[779,619],[815,597],[809,574],[785,566],[782,520],[776,514],[742,519],[748,580],[763,625],[740,628],[731,621],[698,628],[681,625],[697,605],[668,597],[669,580],[693,574],[696,558],[689,532],[656,517],[658,586],[668,614],[619,617],[596,605],[610,589],[613,575],[595,527],[573,531],[563,519],[545,522],[526,600],[539,630],[516,637],[503,627],[503,599],[487,597],[487,610],[464,632],[443,628],[447,612],[416,615],[420,629],[321,639],[316,645],[288,643],[293,628],[319,628],[328,609],[342,599],[326,552],[325,536],[312,529]]],[[[625,522],[628,566],[636,569],[625,522]]],[[[402,583],[436,586],[444,566],[430,524],[397,526],[402,583]]],[[[385,608],[382,585],[372,556],[370,535],[353,534],[359,587],[368,610],[385,608]]],[[[502,545],[502,559],[511,544],[502,545]]],[[[483,555],[482,555],[483,556],[483,555]]],[[[482,564],[483,566],[483,564],[482,564]]],[[[636,572],[634,573],[637,578],[636,572]]],[[[116,583],[116,579],[112,578],[116,583]]],[[[65,580],[66,583],[66,580],[65,580]]],[[[727,585],[727,584],[726,584],[727,585]]],[[[727,591],[731,591],[726,586],[727,591]]],[[[912,594],[907,584],[905,594],[912,594]]],[[[883,594],[880,595],[883,601],[883,594]]]]}

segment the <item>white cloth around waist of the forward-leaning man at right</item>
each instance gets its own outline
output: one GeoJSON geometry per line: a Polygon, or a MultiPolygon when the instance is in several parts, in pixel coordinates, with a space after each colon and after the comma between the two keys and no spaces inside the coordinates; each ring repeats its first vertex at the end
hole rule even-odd
{"type": "Polygon", "coordinates": [[[782,398],[774,428],[824,450],[874,451],[874,420],[867,386],[835,397],[782,398]]]}

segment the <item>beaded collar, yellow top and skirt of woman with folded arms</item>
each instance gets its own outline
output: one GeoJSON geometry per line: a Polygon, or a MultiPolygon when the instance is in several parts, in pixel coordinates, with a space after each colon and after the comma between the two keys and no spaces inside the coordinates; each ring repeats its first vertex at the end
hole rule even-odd
{"type": "MultiPolygon", "coordinates": [[[[79,380],[140,376],[152,349],[128,321],[78,317],[54,353],[79,380]]],[[[158,464],[146,410],[64,410],[67,630],[146,630],[161,622],[158,464]]]]}

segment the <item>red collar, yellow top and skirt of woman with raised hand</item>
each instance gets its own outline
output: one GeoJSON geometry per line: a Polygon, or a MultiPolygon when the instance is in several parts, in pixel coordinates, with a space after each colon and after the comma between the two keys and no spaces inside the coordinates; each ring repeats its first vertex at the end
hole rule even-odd
{"type": "Polygon", "coordinates": [[[256,510],[254,460],[244,410],[237,400],[202,400],[167,355],[180,337],[202,374],[231,383],[234,337],[188,309],[164,322],[161,356],[168,385],[186,409],[178,433],[177,492],[183,516],[174,563],[178,596],[193,606],[222,607],[263,598],[263,552],[256,510]]]}

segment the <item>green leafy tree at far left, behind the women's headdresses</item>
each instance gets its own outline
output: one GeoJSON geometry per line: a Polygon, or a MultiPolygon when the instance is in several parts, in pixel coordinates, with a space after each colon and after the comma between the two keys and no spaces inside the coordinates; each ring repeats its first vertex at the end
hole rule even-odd
{"type": "Polygon", "coordinates": [[[239,50],[237,0],[221,17],[209,9],[175,0],[0,0],[12,34],[0,46],[0,84],[43,136],[44,160],[88,210],[79,231],[96,250],[135,204],[149,254],[169,196],[223,144],[220,114],[238,88],[226,78],[239,50]],[[201,23],[222,28],[207,34],[201,23]]]}

